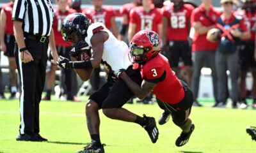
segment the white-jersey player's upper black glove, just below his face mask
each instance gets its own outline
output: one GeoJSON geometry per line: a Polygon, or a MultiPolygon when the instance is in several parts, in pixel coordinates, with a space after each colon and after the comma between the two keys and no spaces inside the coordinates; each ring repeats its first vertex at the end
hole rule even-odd
{"type": "Polygon", "coordinates": [[[91,52],[91,47],[88,45],[88,43],[86,43],[86,41],[79,41],[76,45],[74,45],[74,47],[72,48],[72,50],[70,50],[69,55],[70,57],[79,57],[79,54],[81,52],[88,52],[88,54],[90,54],[91,52]]]}

